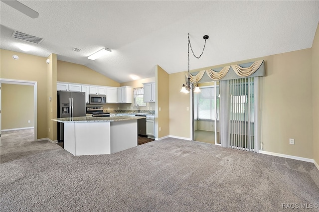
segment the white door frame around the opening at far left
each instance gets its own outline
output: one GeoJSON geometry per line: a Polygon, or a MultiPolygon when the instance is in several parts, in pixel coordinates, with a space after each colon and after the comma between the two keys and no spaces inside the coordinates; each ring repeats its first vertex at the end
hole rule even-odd
{"type": "MultiPolygon", "coordinates": [[[[25,80],[13,80],[13,79],[1,79],[0,78],[0,86],[1,84],[15,84],[15,85],[26,85],[26,86],[33,86],[33,100],[34,100],[34,141],[37,141],[37,82],[35,81],[25,81],[25,80]]],[[[0,91],[1,92],[1,91],[0,91]]],[[[0,101],[0,108],[1,108],[1,101],[0,101]]],[[[1,126],[1,119],[0,119],[0,126],[1,126]]],[[[1,130],[1,129],[0,129],[1,130]]],[[[1,144],[1,140],[0,140],[1,144]]]]}

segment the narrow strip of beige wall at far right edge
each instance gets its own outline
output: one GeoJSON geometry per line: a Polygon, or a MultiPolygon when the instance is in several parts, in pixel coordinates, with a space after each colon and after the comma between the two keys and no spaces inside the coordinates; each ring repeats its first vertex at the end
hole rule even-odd
{"type": "Polygon", "coordinates": [[[319,24],[312,47],[314,160],[319,164],[319,24]]]}

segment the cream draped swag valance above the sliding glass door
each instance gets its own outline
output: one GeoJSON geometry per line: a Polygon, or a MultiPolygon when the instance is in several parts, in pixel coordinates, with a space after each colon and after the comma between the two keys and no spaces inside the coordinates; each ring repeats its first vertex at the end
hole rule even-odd
{"type": "MultiPolygon", "coordinates": [[[[249,77],[253,75],[263,64],[264,60],[258,60],[253,62],[249,67],[242,67],[239,64],[234,64],[231,66],[225,66],[223,67],[219,72],[214,71],[213,69],[208,69],[208,70],[203,70],[198,72],[197,74],[190,74],[190,82],[193,83],[198,83],[206,73],[206,75],[214,80],[223,80],[223,78],[228,74],[229,70],[233,70],[233,72],[238,76],[238,77],[249,77]]],[[[236,76],[235,75],[235,76],[236,76]]],[[[263,76],[264,73],[262,73],[263,76]]],[[[185,74],[186,78],[188,78],[188,75],[185,74]]]]}

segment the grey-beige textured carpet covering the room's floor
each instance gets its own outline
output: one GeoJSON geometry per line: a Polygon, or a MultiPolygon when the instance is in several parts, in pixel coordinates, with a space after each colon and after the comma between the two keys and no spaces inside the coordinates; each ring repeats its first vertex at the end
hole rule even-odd
{"type": "Polygon", "coordinates": [[[174,138],[91,156],[28,142],[2,146],[0,159],[1,212],[291,210],[282,204],[311,212],[319,204],[312,163],[174,138]]]}

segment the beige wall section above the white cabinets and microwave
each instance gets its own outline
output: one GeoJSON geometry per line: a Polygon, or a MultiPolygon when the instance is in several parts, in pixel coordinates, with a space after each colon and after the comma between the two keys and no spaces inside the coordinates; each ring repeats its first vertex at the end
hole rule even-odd
{"type": "Polygon", "coordinates": [[[120,83],[86,66],[60,60],[57,61],[57,81],[99,86],[120,86],[120,83]]]}

